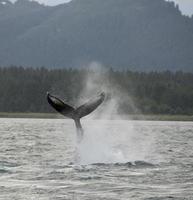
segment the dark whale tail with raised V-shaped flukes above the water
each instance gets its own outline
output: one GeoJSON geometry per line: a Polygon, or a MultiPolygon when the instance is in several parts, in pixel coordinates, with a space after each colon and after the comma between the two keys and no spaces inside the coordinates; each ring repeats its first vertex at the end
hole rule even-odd
{"type": "Polygon", "coordinates": [[[58,97],[47,93],[48,103],[60,114],[64,115],[65,117],[71,118],[75,121],[79,140],[83,136],[83,129],[80,123],[80,118],[93,112],[104,101],[104,99],[105,93],[102,92],[96,98],[89,100],[88,102],[79,106],[78,108],[75,108],[69,104],[64,103],[58,97]]]}

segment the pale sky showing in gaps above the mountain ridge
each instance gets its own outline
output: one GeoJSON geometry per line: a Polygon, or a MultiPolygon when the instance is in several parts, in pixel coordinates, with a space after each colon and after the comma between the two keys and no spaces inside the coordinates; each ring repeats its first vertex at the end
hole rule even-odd
{"type": "MultiPolygon", "coordinates": [[[[15,0],[12,0],[12,1],[15,1],[15,0]]],[[[37,1],[46,5],[57,5],[57,4],[69,2],[70,0],[37,0],[37,1]]],[[[169,1],[174,1],[178,3],[183,14],[190,15],[190,16],[193,14],[193,0],[169,0],[169,1]]]]}

